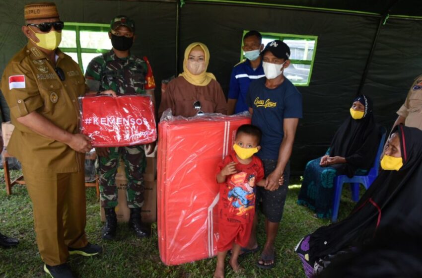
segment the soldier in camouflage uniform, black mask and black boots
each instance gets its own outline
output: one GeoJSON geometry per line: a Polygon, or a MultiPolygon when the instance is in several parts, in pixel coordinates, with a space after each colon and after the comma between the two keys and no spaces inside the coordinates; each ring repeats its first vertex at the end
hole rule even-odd
{"type": "MultiPolygon", "coordinates": [[[[154,100],[154,77],[146,57],[143,59],[130,53],[135,39],[135,22],[127,16],[117,16],[111,21],[109,37],[113,49],[106,54],[95,57],[86,69],[86,83],[93,91],[114,90],[119,94],[148,94],[154,100]]],[[[154,146],[150,148],[154,149],[154,146]]],[[[116,173],[119,158],[125,164],[128,179],[127,200],[131,209],[129,224],[137,236],[149,236],[150,229],[141,223],[143,205],[143,171],[145,169],[144,145],[127,147],[96,148],[99,157],[99,184],[101,206],[105,209],[106,224],[103,238],[116,236],[117,206],[116,173]]]]}

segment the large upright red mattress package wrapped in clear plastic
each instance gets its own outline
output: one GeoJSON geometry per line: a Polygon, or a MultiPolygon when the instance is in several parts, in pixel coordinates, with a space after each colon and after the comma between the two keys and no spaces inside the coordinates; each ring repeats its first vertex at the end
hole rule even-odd
{"type": "Polygon", "coordinates": [[[231,151],[246,116],[174,117],[158,126],[158,246],[166,265],[215,256],[217,164],[231,151]]]}

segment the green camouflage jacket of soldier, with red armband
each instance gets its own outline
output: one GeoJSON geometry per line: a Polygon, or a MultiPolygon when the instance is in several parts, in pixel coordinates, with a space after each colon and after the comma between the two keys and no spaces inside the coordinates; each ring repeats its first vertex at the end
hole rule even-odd
{"type": "Polygon", "coordinates": [[[117,94],[144,94],[155,82],[148,59],[129,55],[118,58],[113,50],[92,59],[85,72],[92,91],[114,90],[117,94]]]}

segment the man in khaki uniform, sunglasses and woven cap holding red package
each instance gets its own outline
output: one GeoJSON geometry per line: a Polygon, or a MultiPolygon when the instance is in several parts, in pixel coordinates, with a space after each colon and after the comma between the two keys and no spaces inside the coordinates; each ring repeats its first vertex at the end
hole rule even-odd
{"type": "Polygon", "coordinates": [[[69,254],[102,252],[84,231],[84,153],[92,146],[79,134],[77,97],[87,90],[78,65],[57,48],[63,27],[55,3],[26,5],[28,44],[1,78],[15,126],[7,151],[22,164],[44,271],[54,278],[73,277],[69,254]]]}

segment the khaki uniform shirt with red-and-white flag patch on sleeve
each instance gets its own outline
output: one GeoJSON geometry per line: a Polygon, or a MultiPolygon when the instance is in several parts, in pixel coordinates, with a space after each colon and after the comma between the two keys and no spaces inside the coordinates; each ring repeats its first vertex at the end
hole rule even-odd
{"type": "Polygon", "coordinates": [[[59,49],[56,68],[64,71],[64,81],[44,53],[29,42],[4,69],[1,91],[15,126],[7,151],[27,169],[54,173],[83,171],[84,154],[65,143],[40,136],[16,121],[36,111],[57,127],[79,133],[77,98],[85,94],[85,79],[79,66],[59,49]]]}

